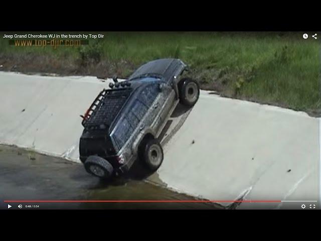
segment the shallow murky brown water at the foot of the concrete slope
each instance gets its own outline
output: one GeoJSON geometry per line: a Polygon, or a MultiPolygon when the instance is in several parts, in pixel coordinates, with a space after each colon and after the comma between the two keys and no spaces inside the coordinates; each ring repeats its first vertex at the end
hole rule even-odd
{"type": "Polygon", "coordinates": [[[22,204],[40,209],[217,209],[212,203],[168,202],[197,200],[143,180],[118,178],[109,183],[89,175],[82,164],[0,145],[0,208],[22,204]],[[9,200],[11,202],[4,202],[9,200]],[[14,200],[81,202],[12,202],[14,200]],[[109,202],[88,202],[88,201],[109,202]],[[149,202],[119,202],[145,200],[149,202]],[[164,202],[154,202],[165,200],[164,202]],[[82,202],[85,201],[85,202],[82,202]],[[117,201],[117,202],[110,202],[117,201]],[[152,202],[150,202],[152,201],[152,202]]]}

